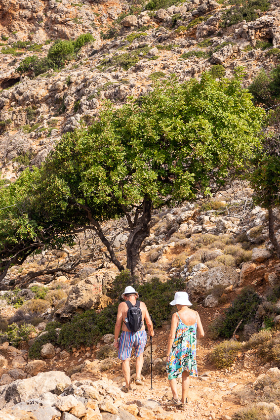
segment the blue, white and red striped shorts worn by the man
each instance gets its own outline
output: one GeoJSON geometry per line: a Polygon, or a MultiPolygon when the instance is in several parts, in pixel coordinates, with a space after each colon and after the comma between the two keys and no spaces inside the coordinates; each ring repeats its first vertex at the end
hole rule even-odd
{"type": "Polygon", "coordinates": [[[131,356],[132,347],[135,348],[135,357],[140,356],[145,349],[147,342],[147,333],[145,330],[136,331],[122,331],[119,342],[119,359],[125,360],[131,356]]]}

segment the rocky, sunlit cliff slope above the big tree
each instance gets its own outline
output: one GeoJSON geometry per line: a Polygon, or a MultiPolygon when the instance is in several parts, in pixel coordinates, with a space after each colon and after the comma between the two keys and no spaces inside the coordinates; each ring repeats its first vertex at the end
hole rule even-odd
{"type": "Polygon", "coordinates": [[[200,78],[214,65],[223,66],[217,77],[228,78],[243,66],[246,87],[260,68],[277,64],[277,1],[267,11],[253,10],[251,22],[231,26],[237,12],[228,1],[192,0],[156,11],[119,0],[0,0],[0,6],[0,161],[10,180],[40,165],[64,132],[97,116],[105,98],[119,107],[127,96],[149,92],[157,78],[200,78]],[[28,56],[45,57],[55,40],[83,33],[95,41],[61,70],[37,77],[17,71],[28,56]]]}

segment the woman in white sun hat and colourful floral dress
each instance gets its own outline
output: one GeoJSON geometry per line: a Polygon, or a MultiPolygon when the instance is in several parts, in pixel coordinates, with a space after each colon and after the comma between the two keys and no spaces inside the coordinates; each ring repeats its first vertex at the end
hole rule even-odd
{"type": "Polygon", "coordinates": [[[176,292],[170,305],[176,305],[178,312],[172,316],[168,338],[166,371],[172,391],[172,402],[179,408],[186,408],[190,376],[198,377],[197,336],[204,336],[199,314],[188,308],[192,303],[186,292],[176,292]],[[177,378],[182,377],[181,402],[177,392],[177,378]]]}

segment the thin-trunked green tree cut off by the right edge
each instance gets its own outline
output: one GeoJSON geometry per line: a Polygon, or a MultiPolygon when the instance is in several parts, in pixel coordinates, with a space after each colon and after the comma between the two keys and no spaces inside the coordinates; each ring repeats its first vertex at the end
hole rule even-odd
{"type": "Polygon", "coordinates": [[[277,257],[280,258],[280,244],[274,232],[273,210],[280,207],[280,112],[270,116],[272,128],[263,139],[262,148],[254,158],[254,170],[250,183],[255,190],[254,201],[268,210],[269,239],[277,257]]]}

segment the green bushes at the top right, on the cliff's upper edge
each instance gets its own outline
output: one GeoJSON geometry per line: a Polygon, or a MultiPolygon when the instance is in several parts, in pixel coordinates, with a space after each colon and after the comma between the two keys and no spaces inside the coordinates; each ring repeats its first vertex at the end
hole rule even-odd
{"type": "Polygon", "coordinates": [[[267,0],[248,0],[246,3],[237,4],[224,13],[221,26],[229,27],[244,19],[247,22],[255,21],[259,17],[257,9],[264,12],[269,8],[270,3],[267,0]]]}

